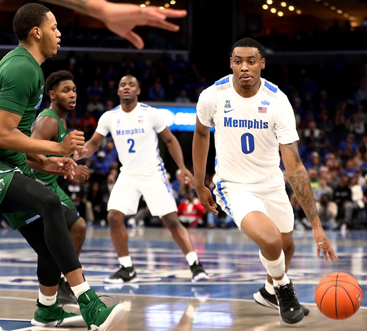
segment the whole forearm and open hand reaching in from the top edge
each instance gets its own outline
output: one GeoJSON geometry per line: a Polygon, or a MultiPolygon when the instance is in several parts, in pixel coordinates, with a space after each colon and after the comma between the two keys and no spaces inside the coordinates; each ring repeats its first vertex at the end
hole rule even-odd
{"type": "Polygon", "coordinates": [[[166,21],[166,18],[185,17],[186,10],[164,9],[135,4],[111,3],[106,0],[43,0],[66,8],[80,11],[100,19],[112,32],[116,33],[137,48],[143,48],[144,42],[132,31],[136,26],[153,26],[169,31],[178,31],[179,26],[166,21]]]}

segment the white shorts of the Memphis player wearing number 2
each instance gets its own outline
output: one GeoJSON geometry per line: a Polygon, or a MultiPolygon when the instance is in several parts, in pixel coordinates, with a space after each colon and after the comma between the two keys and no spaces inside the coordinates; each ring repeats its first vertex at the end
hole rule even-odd
{"type": "Polygon", "coordinates": [[[149,175],[130,175],[121,172],[113,186],[107,210],[115,209],[125,215],[135,215],[143,196],[152,216],[177,212],[170,182],[162,172],[149,175]]]}

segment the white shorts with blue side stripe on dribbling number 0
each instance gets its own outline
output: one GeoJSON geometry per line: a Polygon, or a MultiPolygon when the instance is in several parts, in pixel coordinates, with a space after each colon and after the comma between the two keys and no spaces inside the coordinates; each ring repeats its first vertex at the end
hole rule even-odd
{"type": "Polygon", "coordinates": [[[217,175],[213,181],[217,204],[232,217],[240,230],[243,218],[254,211],[268,216],[281,233],[293,230],[293,208],[286,193],[280,168],[267,179],[252,184],[226,182],[217,175]]]}

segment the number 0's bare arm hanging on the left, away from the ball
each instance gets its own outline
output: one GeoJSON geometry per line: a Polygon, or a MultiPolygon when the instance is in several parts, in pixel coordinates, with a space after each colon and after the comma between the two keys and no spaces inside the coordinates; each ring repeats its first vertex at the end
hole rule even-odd
{"type": "Polygon", "coordinates": [[[205,187],[206,162],[210,143],[210,127],[204,126],[196,117],[194,139],[192,142],[192,162],[194,165],[194,183],[201,205],[208,212],[218,215],[217,204],[214,202],[210,190],[205,187]]]}

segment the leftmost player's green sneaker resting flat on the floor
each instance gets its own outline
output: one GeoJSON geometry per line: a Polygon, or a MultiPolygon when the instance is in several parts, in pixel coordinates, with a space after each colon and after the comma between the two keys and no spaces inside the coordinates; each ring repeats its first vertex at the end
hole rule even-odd
{"type": "Polygon", "coordinates": [[[34,312],[34,319],[30,323],[42,327],[81,328],[87,326],[81,315],[65,312],[57,301],[49,307],[37,307],[36,312],[34,312]]]}

